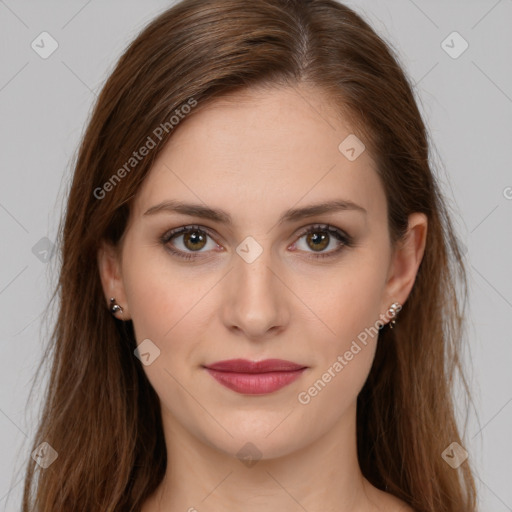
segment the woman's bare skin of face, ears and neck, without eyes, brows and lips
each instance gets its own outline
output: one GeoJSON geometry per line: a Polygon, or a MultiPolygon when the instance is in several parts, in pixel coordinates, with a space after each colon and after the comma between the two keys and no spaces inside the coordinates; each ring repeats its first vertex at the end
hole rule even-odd
{"type": "Polygon", "coordinates": [[[373,487],[357,459],[356,400],[378,336],[359,343],[341,371],[332,368],[393,302],[406,302],[427,219],[411,215],[405,243],[393,250],[375,163],[368,151],[354,161],[340,152],[352,129],[330,104],[301,87],[199,106],[158,155],[119,253],[104,245],[98,254],[106,300],[116,297],[123,307],[117,316],[133,321],[137,343],[150,339],[160,350],[144,371],[160,397],[168,467],[143,512],[412,511],[373,487]],[[171,199],[222,209],[233,223],[169,210],[145,214],[171,199]],[[288,209],[335,199],[366,213],[278,223],[288,209]],[[160,241],[191,225],[192,242],[183,234],[160,241]],[[326,237],[320,251],[304,234],[312,226],[326,237]],[[250,263],[236,252],[248,236],[262,250],[250,263]],[[315,259],[319,253],[328,256],[315,259]],[[280,358],[308,368],[284,388],[247,395],[203,368],[232,358],[280,358]],[[308,394],[329,368],[325,387],[308,394]],[[251,465],[241,460],[248,442],[257,449],[251,465]]]}

